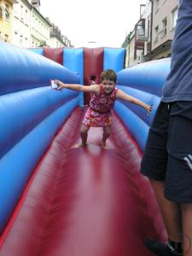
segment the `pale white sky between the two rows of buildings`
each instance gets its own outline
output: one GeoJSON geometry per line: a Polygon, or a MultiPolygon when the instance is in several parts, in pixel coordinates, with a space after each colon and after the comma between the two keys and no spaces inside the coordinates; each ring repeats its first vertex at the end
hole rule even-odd
{"type": "Polygon", "coordinates": [[[121,47],[146,0],[41,0],[40,13],[78,47],[121,47]],[[96,43],[90,43],[96,42],[96,43]]]}

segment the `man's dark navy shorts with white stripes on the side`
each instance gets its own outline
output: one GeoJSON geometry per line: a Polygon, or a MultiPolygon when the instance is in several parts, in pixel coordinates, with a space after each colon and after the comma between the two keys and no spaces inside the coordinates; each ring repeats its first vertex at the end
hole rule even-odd
{"type": "Polygon", "coordinates": [[[192,102],[160,102],[141,164],[143,175],[165,181],[165,196],[192,203],[192,102]]]}

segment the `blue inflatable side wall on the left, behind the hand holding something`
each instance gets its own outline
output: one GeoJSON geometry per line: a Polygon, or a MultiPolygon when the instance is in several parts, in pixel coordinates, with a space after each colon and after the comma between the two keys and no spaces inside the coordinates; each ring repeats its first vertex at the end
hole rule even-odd
{"type": "Polygon", "coordinates": [[[50,89],[49,79],[79,83],[66,67],[26,49],[0,43],[0,231],[35,166],[73,108],[79,93],[50,89]]]}

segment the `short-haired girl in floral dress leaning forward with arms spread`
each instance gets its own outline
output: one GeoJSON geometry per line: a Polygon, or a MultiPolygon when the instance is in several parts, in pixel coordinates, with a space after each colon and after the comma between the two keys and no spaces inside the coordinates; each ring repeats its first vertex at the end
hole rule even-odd
{"type": "Polygon", "coordinates": [[[71,90],[91,92],[90,107],[84,115],[83,124],[80,129],[82,143],[79,147],[86,146],[90,127],[103,127],[101,146],[102,148],[106,147],[106,141],[111,133],[112,109],[116,99],[137,104],[138,106],[145,108],[148,114],[152,109],[152,106],[137,100],[135,97],[127,95],[125,92],[115,87],[117,75],[113,69],[103,71],[101,80],[102,84],[92,84],[90,86],[63,84],[59,80],[54,81],[55,84],[58,85],[57,90],[67,88],[71,90]]]}

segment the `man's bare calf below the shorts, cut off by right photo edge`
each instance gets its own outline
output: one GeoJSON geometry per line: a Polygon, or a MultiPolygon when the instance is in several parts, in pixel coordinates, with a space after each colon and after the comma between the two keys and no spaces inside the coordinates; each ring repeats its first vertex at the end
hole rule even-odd
{"type": "Polygon", "coordinates": [[[182,204],[183,256],[192,255],[192,204],[182,204]]]}

